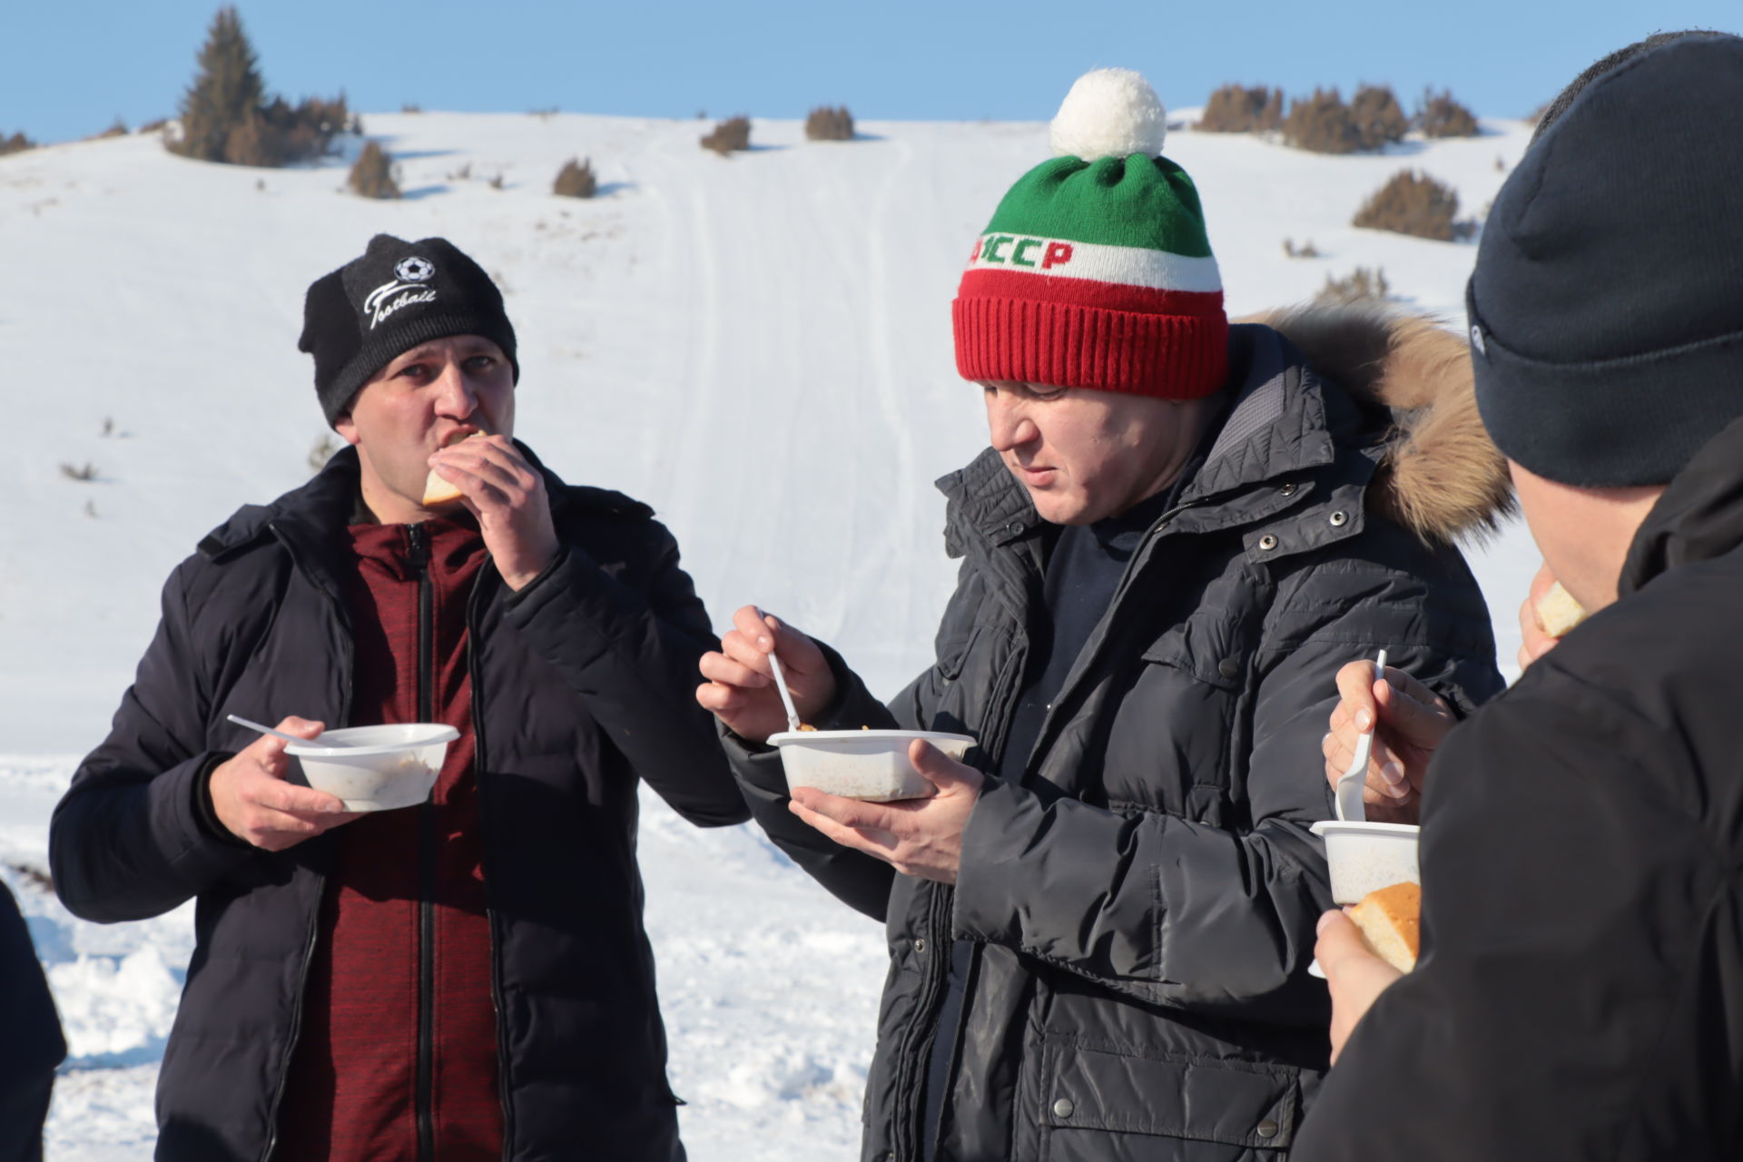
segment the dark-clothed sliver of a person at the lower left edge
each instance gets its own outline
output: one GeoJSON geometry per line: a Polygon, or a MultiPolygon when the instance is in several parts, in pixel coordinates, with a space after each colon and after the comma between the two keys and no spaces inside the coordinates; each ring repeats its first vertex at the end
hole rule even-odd
{"type": "Polygon", "coordinates": [[[49,983],[17,911],[0,883],[0,1162],[42,1162],[42,1124],[49,1117],[54,1066],[66,1040],[49,983]]]}

